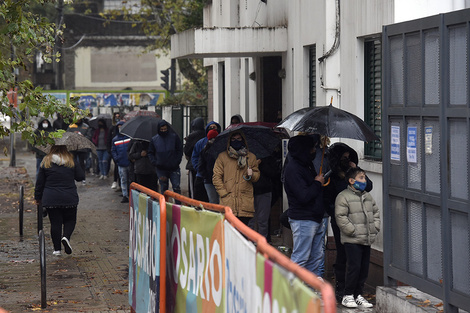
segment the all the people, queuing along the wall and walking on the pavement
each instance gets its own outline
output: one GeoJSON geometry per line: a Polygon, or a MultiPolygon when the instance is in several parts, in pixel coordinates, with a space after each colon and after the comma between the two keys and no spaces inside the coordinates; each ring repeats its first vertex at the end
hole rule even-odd
{"type": "MultiPolygon", "coordinates": [[[[234,115],[231,121],[240,123],[243,119],[234,115]]],[[[50,123],[41,123],[41,130],[53,129],[50,123]]],[[[150,142],[121,134],[123,124],[120,115],[115,114],[111,128],[99,120],[94,130],[84,121],[67,129],[82,133],[96,145],[100,179],[108,178],[111,160],[115,163],[114,176],[118,180],[112,188],[122,192],[121,203],[129,202],[132,181],[160,193],[168,190],[171,183],[173,191],[181,193],[180,163],[184,154],[190,197],[229,206],[244,224],[269,241],[271,208],[280,196],[275,186],[282,180],[293,236],[292,261],[320,278],[324,275],[325,234],[330,219],[337,249],[334,264],[337,300],[348,308],[372,306],[364,298],[363,289],[370,247],[380,230],[380,216],[369,193],[372,181],[358,167],[354,149],[344,143],[327,147],[326,138],[319,135],[293,136],[281,169],[279,151],[258,159],[241,130],[231,132],[225,149],[214,156],[210,149],[222,131],[215,121],[204,127],[202,118],[195,119],[184,147],[165,120],[159,122],[158,133],[150,142]],[[325,179],[327,171],[331,175],[325,179]]],[[[74,180],[85,182],[87,151],[75,151],[72,155],[64,151],[64,146],[53,147],[46,156],[38,156],[35,199],[49,214],[54,254],[58,255],[61,244],[66,253],[72,251],[70,237],[78,205],[74,180]],[[61,188],[65,189],[56,198],[51,194],[57,192],[54,188],[58,181],[63,181],[61,188]]]]}

